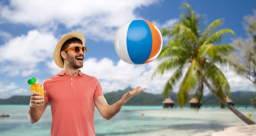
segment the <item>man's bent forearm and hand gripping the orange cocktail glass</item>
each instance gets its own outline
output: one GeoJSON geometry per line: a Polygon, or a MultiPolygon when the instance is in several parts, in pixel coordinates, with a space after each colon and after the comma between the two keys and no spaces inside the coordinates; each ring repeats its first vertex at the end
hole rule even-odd
{"type": "Polygon", "coordinates": [[[40,93],[33,92],[33,94],[30,97],[30,107],[28,107],[28,111],[27,111],[28,119],[32,124],[39,121],[39,119],[43,115],[48,105],[48,103],[39,104],[41,102],[44,102],[44,100],[40,100],[40,99],[43,99],[44,97],[36,96],[36,95],[40,95],[40,93]]]}

